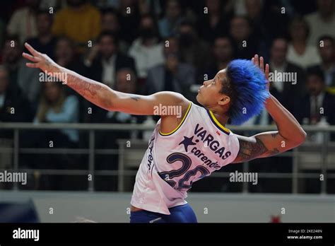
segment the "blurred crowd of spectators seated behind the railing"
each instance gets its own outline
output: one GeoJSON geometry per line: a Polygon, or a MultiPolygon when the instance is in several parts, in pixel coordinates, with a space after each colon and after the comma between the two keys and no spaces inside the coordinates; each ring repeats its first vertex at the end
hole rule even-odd
{"type": "MultiPolygon", "coordinates": [[[[115,90],[142,95],[170,90],[195,103],[196,87],[229,61],[260,54],[274,74],[271,93],[300,123],[335,124],[334,0],[13,0],[0,5],[0,122],[146,121],[107,112],[61,83],[47,82],[41,71],[25,66],[21,54],[28,42],[61,66],[115,90]],[[285,81],[278,74],[292,77],[285,81]]],[[[273,122],[262,112],[245,124],[273,122]]],[[[45,147],[52,138],[64,148],[87,146],[82,136],[66,129],[30,131],[20,144],[45,147]]],[[[0,146],[12,137],[0,129],[0,146]]],[[[116,139],[130,133],[96,137],[95,146],[113,148],[116,139]]],[[[104,160],[102,169],[108,165],[104,160]]]]}

